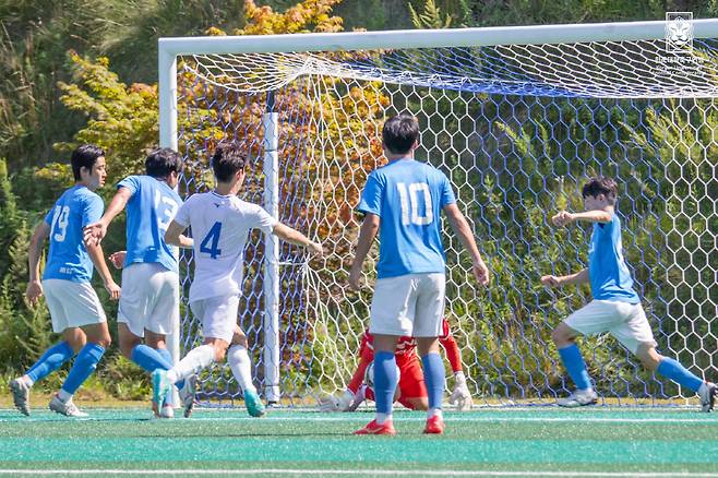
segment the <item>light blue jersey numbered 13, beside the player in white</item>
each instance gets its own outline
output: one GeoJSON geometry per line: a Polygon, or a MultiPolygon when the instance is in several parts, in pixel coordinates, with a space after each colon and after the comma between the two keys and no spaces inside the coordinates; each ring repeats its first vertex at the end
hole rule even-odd
{"type": "Polygon", "coordinates": [[[165,231],[182,205],[179,194],[149,176],[129,176],[117,188],[132,193],[128,201],[127,256],[124,265],[158,263],[178,272],[177,250],[165,242],[165,231]]]}

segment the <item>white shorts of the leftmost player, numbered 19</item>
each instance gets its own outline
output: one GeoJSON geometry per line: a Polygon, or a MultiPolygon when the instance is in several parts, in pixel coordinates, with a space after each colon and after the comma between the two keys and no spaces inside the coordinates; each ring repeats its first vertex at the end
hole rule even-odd
{"type": "Polygon", "coordinates": [[[89,283],[46,279],[43,280],[43,292],[55,333],[107,321],[97,292],[89,283]]]}

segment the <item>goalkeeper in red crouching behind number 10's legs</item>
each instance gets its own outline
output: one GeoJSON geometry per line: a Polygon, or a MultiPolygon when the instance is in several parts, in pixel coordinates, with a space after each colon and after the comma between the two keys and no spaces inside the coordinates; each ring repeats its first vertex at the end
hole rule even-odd
{"type": "MultiPolygon", "coordinates": [[[[352,411],[364,399],[374,399],[374,391],[364,384],[367,368],[374,361],[374,337],[364,331],[359,346],[359,366],[351,377],[346,391],[340,396],[328,396],[320,402],[322,411],[352,411]]],[[[466,377],[462,370],[462,352],[454,336],[451,334],[446,319],[442,323],[442,335],[439,343],[446,352],[446,358],[454,372],[454,391],[448,403],[456,405],[459,410],[471,408],[471,394],[466,385],[466,377]]],[[[416,352],[414,337],[400,337],[396,345],[396,366],[399,369],[398,397],[395,399],[412,410],[426,410],[429,406],[427,385],[423,381],[421,363],[416,352]]]]}

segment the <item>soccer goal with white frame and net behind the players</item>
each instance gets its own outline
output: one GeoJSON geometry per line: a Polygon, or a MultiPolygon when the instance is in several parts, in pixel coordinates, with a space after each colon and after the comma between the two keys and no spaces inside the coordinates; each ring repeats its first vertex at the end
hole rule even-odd
{"type": "MultiPolygon", "coordinates": [[[[211,188],[214,145],[239,142],[254,158],[242,198],[328,251],[310,260],[259,234],[248,244],[239,320],[265,398],[312,405],[354,371],[371,299],[347,287],[354,207],[384,164],[383,121],[405,111],[421,126],[417,158],[450,177],[493,274],[476,286],[445,237],[446,313],[476,403],[541,403],[572,387],[550,330],[588,290],[548,291],[538,279],[586,264],[588,229],[547,217],[579,210],[595,174],[620,186],[624,251],[659,349],[718,379],[715,38],[718,20],[680,19],[160,39],[160,141],[186,159],[181,193],[211,188]]],[[[181,264],[187,292],[191,253],[181,264]]],[[[199,339],[182,307],[176,354],[199,339]]],[[[609,336],[582,348],[605,399],[691,396],[609,336]]],[[[201,393],[240,397],[222,366],[201,393]]]]}

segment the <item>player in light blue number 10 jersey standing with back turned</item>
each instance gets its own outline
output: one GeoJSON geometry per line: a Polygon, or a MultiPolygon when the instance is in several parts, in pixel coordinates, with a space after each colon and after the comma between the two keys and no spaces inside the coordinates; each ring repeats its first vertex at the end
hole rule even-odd
{"type": "Polygon", "coordinates": [[[472,273],[487,285],[489,271],[466,218],[456,206],[448,178],[414,159],[418,147],[416,118],[399,115],[382,130],[388,165],[367,179],[358,210],[364,213],[349,285],[360,287],[361,268],[376,234],[380,237],[378,280],[369,331],[374,335],[376,418],[357,434],[395,434],[392,402],[397,384],[394,352],[399,336],[414,336],[429,394],[424,433],[443,433],[441,402],[444,365],[439,355],[444,315],[445,261],[441,242],[443,211],[469,251],[472,273]]]}

